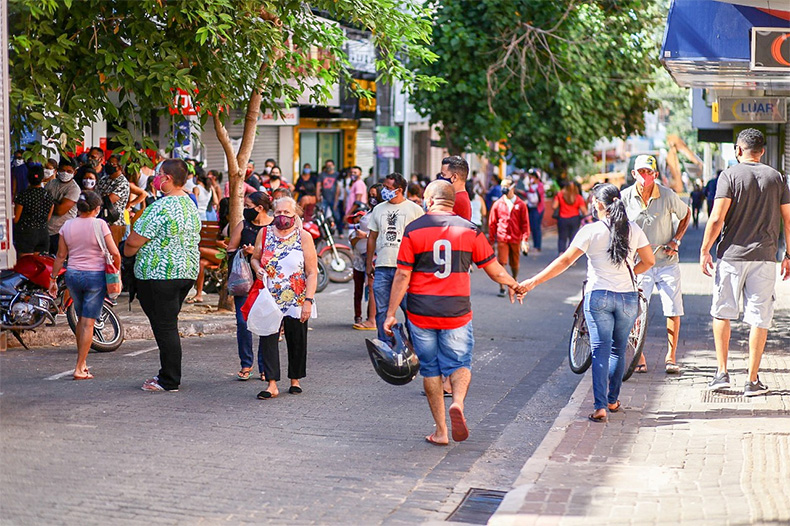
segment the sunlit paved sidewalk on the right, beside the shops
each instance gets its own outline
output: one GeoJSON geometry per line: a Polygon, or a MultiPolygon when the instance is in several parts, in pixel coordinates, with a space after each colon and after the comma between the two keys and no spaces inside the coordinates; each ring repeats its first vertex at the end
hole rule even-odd
{"type": "Polygon", "coordinates": [[[761,364],[771,392],[744,398],[748,327],[733,323],[733,389],[706,391],[716,369],[712,280],[695,263],[682,270],[682,374],[664,373],[664,318],[654,296],[649,371],[623,385],[625,411],[607,424],[589,422],[587,373],[488,524],[790,523],[790,282],[778,282],[761,364]]]}

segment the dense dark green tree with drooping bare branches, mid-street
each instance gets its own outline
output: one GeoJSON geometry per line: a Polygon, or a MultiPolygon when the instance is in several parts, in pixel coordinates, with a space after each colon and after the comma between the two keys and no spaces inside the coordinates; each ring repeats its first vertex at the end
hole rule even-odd
{"type": "Polygon", "coordinates": [[[644,127],[658,64],[649,0],[442,0],[439,59],[421,74],[447,81],[414,100],[448,149],[487,154],[507,140],[522,165],[562,172],[601,137],[644,127]]]}

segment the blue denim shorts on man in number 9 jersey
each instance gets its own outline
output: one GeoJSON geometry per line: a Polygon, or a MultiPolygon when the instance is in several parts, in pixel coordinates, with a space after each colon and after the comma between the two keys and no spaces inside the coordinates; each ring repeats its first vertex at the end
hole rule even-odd
{"type": "Polygon", "coordinates": [[[472,368],[475,337],[470,321],[457,329],[423,329],[409,322],[409,337],[420,359],[423,378],[450,376],[461,368],[472,368]]]}

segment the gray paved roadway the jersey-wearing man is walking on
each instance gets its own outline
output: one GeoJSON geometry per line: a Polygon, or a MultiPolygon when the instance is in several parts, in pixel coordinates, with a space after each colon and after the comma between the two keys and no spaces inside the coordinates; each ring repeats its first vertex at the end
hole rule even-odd
{"type": "MultiPolygon", "coordinates": [[[[551,247],[549,240],[546,248],[551,247]]],[[[522,277],[552,250],[522,258],[522,277]]],[[[523,306],[472,275],[469,440],[439,448],[419,378],[393,387],[351,330],[352,284],[318,295],[302,395],[234,379],[234,335],[184,340],[177,393],[145,393],[155,344],[91,354],[96,379],[59,376],[75,349],[0,356],[4,524],[415,524],[444,520],[469,487],[510,489],[579,377],[564,363],[579,262],[523,306]]],[[[283,377],[285,378],[285,347],[283,377]]]]}

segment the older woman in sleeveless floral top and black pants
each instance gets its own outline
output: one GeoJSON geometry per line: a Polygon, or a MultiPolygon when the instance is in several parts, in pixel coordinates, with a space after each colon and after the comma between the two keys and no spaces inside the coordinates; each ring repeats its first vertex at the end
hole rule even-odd
{"type": "MultiPolygon", "coordinates": [[[[274,202],[273,228],[260,231],[252,254],[252,270],[274,297],[283,313],[283,332],[288,346],[288,392],[299,394],[299,380],[306,376],[307,320],[313,313],[318,282],[318,261],[309,232],[297,218],[301,209],[290,197],[274,202]],[[264,237],[265,233],[265,237],[264,237]]],[[[269,382],[258,398],[266,400],[280,394],[279,331],[261,338],[263,368],[269,382]]]]}

